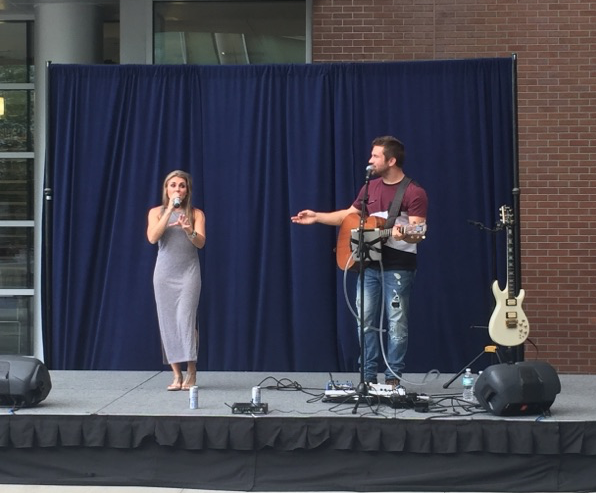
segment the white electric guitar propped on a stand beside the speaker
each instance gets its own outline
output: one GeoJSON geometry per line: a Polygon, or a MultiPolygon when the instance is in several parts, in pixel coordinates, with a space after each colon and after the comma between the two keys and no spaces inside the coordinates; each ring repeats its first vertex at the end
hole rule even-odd
{"type": "Polygon", "coordinates": [[[521,306],[526,293],[520,289],[515,296],[513,219],[511,209],[507,206],[501,207],[501,222],[507,228],[507,284],[501,291],[499,281],[493,282],[496,306],[488,322],[488,333],[501,346],[517,346],[528,338],[530,325],[521,306]]]}

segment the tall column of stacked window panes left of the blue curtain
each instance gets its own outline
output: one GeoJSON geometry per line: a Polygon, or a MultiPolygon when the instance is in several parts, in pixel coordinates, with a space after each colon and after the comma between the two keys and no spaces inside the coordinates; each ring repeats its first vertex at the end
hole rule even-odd
{"type": "Polygon", "coordinates": [[[0,354],[33,352],[32,38],[33,22],[0,22],[0,354]]]}

